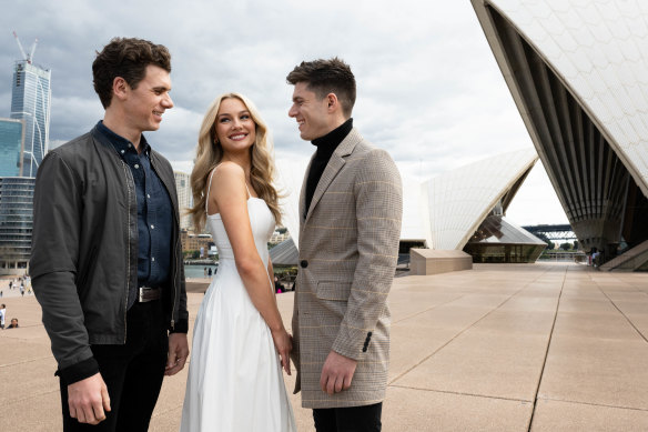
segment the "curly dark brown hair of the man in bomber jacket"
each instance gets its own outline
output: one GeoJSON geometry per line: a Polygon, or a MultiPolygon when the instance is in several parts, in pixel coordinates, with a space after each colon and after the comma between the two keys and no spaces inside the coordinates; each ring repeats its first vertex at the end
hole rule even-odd
{"type": "Polygon", "coordinates": [[[153,64],[171,72],[171,54],[164,46],[136,38],[113,38],[92,62],[92,82],[103,108],[112,101],[112,83],[123,78],[135,89],[153,64]]]}

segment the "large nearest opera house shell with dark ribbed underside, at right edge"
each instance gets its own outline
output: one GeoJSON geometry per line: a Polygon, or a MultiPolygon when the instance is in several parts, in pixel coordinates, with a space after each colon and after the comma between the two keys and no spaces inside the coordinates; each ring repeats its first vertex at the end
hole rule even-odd
{"type": "Polygon", "coordinates": [[[648,3],[472,2],[584,248],[648,239],[648,3]]]}

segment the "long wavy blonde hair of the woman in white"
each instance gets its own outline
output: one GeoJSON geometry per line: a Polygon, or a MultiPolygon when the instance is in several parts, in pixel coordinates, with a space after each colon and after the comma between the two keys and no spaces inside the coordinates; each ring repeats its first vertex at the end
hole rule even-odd
{"type": "Polygon", "coordinates": [[[193,192],[194,205],[189,210],[189,214],[192,214],[193,224],[198,232],[202,231],[206,220],[205,202],[207,199],[206,188],[207,182],[210,181],[209,175],[214,167],[216,167],[223,159],[223,148],[220,142],[215,142],[216,114],[221,108],[221,102],[230,98],[235,98],[243,102],[250,111],[252,120],[256,124],[256,140],[250,148],[250,160],[252,165],[250,169],[250,182],[252,183],[252,188],[254,188],[259,194],[259,198],[263,199],[270,208],[276,223],[281,223],[281,210],[279,207],[280,197],[272,184],[274,179],[274,158],[272,154],[272,139],[270,138],[267,125],[250,99],[245,98],[243,94],[232,92],[221,94],[212,102],[203,119],[200,134],[198,137],[195,162],[193,171],[191,172],[191,189],[193,192]]]}

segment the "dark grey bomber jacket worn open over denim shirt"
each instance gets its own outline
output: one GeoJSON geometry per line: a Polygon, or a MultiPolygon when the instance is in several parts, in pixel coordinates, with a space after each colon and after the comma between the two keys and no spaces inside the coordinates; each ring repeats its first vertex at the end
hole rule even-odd
{"type": "MultiPolygon", "coordinates": [[[[169,191],[174,227],[168,287],[169,331],[186,333],[189,313],[173,169],[151,151],[151,165],[169,191]]],[[[130,168],[97,131],[48,153],[33,199],[30,260],[58,374],[68,384],[99,371],[90,344],[123,344],[126,301],[138,285],[138,205],[130,168]]]]}

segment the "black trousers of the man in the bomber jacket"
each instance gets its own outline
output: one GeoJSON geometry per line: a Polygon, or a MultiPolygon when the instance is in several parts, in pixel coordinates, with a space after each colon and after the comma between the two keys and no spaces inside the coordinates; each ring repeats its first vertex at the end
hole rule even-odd
{"type": "Polygon", "coordinates": [[[146,431],[164,379],[169,338],[162,302],[135,303],[126,315],[124,345],[92,345],[99,371],[110,395],[112,411],[98,425],[70,416],[68,385],[60,380],[63,430],[146,431]]]}

